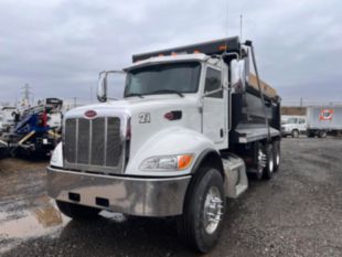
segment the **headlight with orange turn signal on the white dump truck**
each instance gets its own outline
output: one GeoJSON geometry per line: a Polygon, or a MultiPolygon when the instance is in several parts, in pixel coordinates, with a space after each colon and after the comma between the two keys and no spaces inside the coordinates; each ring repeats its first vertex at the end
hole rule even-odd
{"type": "Polygon", "coordinates": [[[152,157],[145,160],[140,170],[151,171],[151,170],[185,170],[190,167],[193,160],[192,154],[183,154],[183,156],[168,156],[168,157],[152,157]]]}

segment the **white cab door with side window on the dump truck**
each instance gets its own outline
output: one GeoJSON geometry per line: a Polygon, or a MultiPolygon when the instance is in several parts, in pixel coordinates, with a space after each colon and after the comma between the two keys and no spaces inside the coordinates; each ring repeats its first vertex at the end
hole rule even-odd
{"type": "Polygon", "coordinates": [[[221,71],[207,67],[203,96],[203,133],[217,146],[217,149],[225,148],[227,137],[225,121],[227,108],[224,99],[221,71]]]}

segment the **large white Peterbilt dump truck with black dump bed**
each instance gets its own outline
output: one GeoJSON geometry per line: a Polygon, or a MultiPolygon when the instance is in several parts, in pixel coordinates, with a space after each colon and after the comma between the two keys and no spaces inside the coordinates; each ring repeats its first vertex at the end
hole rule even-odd
{"type": "Polygon", "coordinates": [[[280,97],[258,79],[252,42],[238,38],[132,60],[124,99],[107,96],[118,72],[101,72],[101,104],[65,114],[49,195],[73,218],[174,216],[182,242],[206,253],[247,172],[269,180],[279,167],[280,97]]]}

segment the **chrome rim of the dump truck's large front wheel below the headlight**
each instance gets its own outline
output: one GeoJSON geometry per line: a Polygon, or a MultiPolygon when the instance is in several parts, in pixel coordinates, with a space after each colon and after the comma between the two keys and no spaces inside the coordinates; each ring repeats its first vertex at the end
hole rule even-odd
{"type": "Polygon", "coordinates": [[[207,234],[216,232],[223,215],[223,200],[216,186],[210,188],[204,202],[204,229],[207,234]]]}

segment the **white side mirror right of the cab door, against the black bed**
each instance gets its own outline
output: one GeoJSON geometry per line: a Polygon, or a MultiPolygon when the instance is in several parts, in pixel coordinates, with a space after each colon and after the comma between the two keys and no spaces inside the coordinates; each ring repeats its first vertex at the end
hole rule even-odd
{"type": "Polygon", "coordinates": [[[246,64],[244,60],[231,62],[231,83],[233,93],[242,94],[246,90],[246,64]]]}

